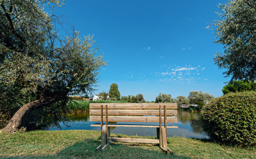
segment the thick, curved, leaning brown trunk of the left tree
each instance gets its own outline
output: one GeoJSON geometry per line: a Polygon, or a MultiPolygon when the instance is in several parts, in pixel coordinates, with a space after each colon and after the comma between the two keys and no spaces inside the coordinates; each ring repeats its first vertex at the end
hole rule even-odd
{"type": "Polygon", "coordinates": [[[0,130],[4,132],[9,132],[9,133],[14,133],[15,131],[18,131],[21,128],[21,123],[23,120],[23,117],[30,111],[43,107],[45,105],[49,105],[51,103],[55,103],[56,101],[60,101],[61,98],[59,99],[38,99],[36,101],[32,101],[31,103],[27,103],[23,105],[16,113],[13,115],[9,123],[0,130]]]}

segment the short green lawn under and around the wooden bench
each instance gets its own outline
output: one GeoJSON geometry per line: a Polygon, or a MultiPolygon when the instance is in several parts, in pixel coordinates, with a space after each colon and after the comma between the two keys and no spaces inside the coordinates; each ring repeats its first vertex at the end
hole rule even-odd
{"type": "Polygon", "coordinates": [[[168,138],[168,147],[174,151],[174,156],[164,155],[155,144],[118,142],[112,142],[103,152],[96,152],[101,143],[99,139],[99,131],[2,132],[0,158],[256,158],[256,148],[180,137],[168,138]]]}

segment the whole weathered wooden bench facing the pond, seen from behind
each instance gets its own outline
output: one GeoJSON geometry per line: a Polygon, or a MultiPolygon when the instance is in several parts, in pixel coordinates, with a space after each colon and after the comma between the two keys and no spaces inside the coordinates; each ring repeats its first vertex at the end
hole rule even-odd
{"type": "Polygon", "coordinates": [[[167,128],[178,127],[167,126],[167,123],[177,123],[176,109],[176,103],[90,103],[90,121],[101,122],[100,125],[91,125],[101,127],[101,145],[96,150],[104,150],[109,142],[137,142],[159,144],[165,154],[172,154],[172,150],[167,147],[167,128]],[[109,122],[145,122],[147,125],[119,125],[109,122]],[[111,137],[109,127],[155,127],[157,139],[111,137]]]}

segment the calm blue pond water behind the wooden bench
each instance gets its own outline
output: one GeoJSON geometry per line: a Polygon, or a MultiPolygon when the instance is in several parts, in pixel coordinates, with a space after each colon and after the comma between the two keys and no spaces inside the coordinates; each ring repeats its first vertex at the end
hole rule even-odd
{"type": "MultiPolygon", "coordinates": [[[[60,123],[62,130],[94,130],[100,131],[100,127],[90,127],[90,125],[99,123],[89,120],[89,113],[78,113],[72,116],[71,121],[60,123]]],[[[119,122],[118,124],[124,124],[119,122]]],[[[131,124],[131,123],[130,123],[131,124]]],[[[144,124],[145,123],[136,123],[144,124]]],[[[151,124],[151,123],[149,123],[151,124]]],[[[152,123],[157,125],[157,123],[152,123]]],[[[202,129],[202,123],[199,113],[190,113],[187,111],[178,111],[178,123],[168,123],[168,126],[178,126],[178,129],[167,129],[167,136],[180,136],[186,138],[208,138],[202,129]]],[[[55,131],[60,130],[58,127],[45,128],[44,130],[55,131]]],[[[111,133],[128,134],[139,136],[157,136],[155,128],[136,128],[136,127],[112,127],[111,133]]]]}

